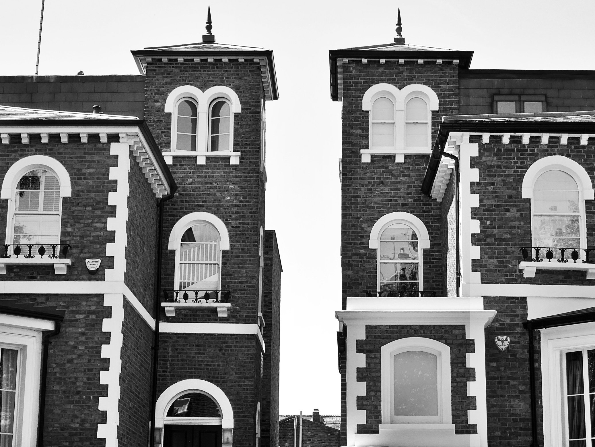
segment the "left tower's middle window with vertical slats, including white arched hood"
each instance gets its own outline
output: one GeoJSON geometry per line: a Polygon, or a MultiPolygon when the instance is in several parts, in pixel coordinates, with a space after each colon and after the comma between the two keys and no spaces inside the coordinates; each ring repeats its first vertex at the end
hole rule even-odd
{"type": "Polygon", "coordinates": [[[176,250],[175,290],[204,294],[221,289],[221,250],[229,250],[226,225],[211,213],[190,213],[171,229],[176,250]]]}

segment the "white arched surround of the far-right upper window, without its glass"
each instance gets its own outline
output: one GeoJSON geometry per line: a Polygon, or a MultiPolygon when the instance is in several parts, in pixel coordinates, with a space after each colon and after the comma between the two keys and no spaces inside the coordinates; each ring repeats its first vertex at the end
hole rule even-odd
{"type": "MultiPolygon", "coordinates": [[[[593,182],[583,166],[572,159],[563,156],[549,156],[539,159],[527,169],[522,182],[521,197],[531,199],[531,244],[536,247],[536,235],[533,234],[534,189],[537,179],[551,170],[562,171],[574,179],[578,187],[578,208],[579,208],[579,240],[580,248],[587,248],[587,224],[585,219],[585,200],[594,199],[593,182]]],[[[558,250],[555,250],[555,253],[558,250]]],[[[542,253],[544,255],[544,253],[542,253]]],[[[569,257],[570,253],[566,253],[569,257]]],[[[584,253],[580,252],[583,257],[584,253]]]]}

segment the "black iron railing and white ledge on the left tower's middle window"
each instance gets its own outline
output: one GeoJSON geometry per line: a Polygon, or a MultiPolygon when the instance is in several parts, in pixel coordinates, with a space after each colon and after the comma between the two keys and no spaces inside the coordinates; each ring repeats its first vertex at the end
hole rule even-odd
{"type": "Polygon", "coordinates": [[[227,316],[231,307],[230,290],[164,290],[163,296],[167,316],[176,316],[176,308],[217,308],[217,316],[227,316]]]}

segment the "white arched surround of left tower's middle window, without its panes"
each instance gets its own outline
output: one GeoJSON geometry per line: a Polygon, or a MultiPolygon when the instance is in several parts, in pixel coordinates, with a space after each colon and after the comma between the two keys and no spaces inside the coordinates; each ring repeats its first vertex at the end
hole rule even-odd
{"type": "Polygon", "coordinates": [[[176,271],[174,274],[174,284],[176,289],[178,290],[179,283],[180,283],[180,253],[181,253],[181,238],[186,232],[187,229],[192,228],[194,225],[201,224],[202,222],[207,222],[208,224],[212,225],[217,232],[219,233],[219,250],[218,253],[218,260],[219,260],[219,271],[218,271],[218,286],[217,290],[221,289],[221,252],[224,250],[229,250],[229,234],[227,232],[227,227],[223,221],[217,216],[206,213],[206,212],[195,212],[187,214],[183,216],[179,221],[171,229],[170,233],[170,240],[168,243],[169,250],[176,250],[176,271]]]}

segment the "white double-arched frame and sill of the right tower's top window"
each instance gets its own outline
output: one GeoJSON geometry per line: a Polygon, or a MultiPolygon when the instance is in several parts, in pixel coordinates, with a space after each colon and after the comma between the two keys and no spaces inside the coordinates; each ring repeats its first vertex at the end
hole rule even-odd
{"type": "Polygon", "coordinates": [[[362,110],[369,111],[369,148],[362,149],[362,162],[369,163],[371,154],[396,154],[396,162],[404,162],[405,154],[429,154],[431,152],[431,111],[438,110],[439,99],[436,92],[430,87],[422,84],[411,84],[399,90],[394,85],[379,83],[372,85],[362,98],[362,110]],[[372,120],[374,101],[378,98],[389,98],[394,103],[394,146],[375,147],[373,142],[374,124],[372,120]],[[406,120],[406,104],[413,98],[421,98],[427,105],[427,117],[425,119],[406,120]],[[406,127],[410,128],[416,124],[427,124],[427,144],[423,146],[407,147],[406,127]]]}

